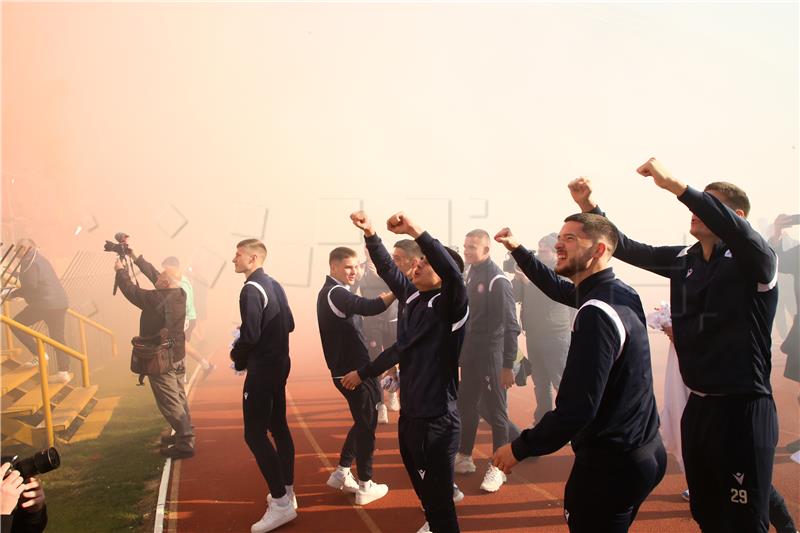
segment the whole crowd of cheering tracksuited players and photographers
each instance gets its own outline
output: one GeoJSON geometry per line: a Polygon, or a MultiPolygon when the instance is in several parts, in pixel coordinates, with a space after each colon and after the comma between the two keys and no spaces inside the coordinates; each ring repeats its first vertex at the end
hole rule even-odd
{"type": "MultiPolygon", "coordinates": [[[[456,503],[464,495],[456,474],[478,469],[473,448],[480,419],[491,428],[493,449],[485,470],[482,465],[486,492],[500,490],[519,462],[571,444],[575,461],[564,488],[570,531],[627,531],[664,477],[667,452],[685,472],[684,497],[703,531],[764,532],[770,520],[780,532],[796,531],[772,486],[778,419],[770,375],[779,272],[795,276],[800,302],[800,248],[782,243],[797,217],[778,217],[768,240],[748,222],[750,202],[739,187],[714,182],[695,189],[656,159],[637,172],[690,211],[696,243],[634,241],[600,209],[586,178],[568,184],[580,212],[543,236],[536,253],[509,228],[496,232],[494,241],[513,259],[502,266],[490,257],[492,237],[484,229],[465,235],[462,256],[397,212],[386,230],[403,238],[390,253],[366,213],[350,215],[363,232],[367,261],[359,263],[347,247],[331,250],[317,297],[324,360],[353,420],[328,486],[354,494],[359,505],[388,493],[373,471],[375,431],[399,403],[400,454],[426,519],[418,533],[459,531],[456,503]],[[650,322],[669,336],[679,369],[672,379],[683,391],[677,403],[670,400],[665,420],[653,392],[647,314],[637,292],[614,273],[612,258],[669,280],[663,320],[650,322]],[[518,347],[522,332],[526,361],[518,347]],[[523,430],[509,419],[506,397],[520,369],[530,370],[535,394],[533,420],[523,430]]],[[[177,259],[166,259],[159,272],[130,255],[155,289],[134,284],[120,261],[117,283],[142,310],[140,338],[149,339],[152,359],[167,361],[157,371],[152,364],[135,371],[147,376],[174,429],[162,453],[189,458],[194,433],[184,354],[195,356],[206,373],[213,369],[188,343],[191,286],[177,259]]],[[[269,488],[252,533],[297,517],[286,420],[295,323],[282,286],[264,270],[266,258],[264,243],[247,239],[233,259],[245,280],[230,357],[237,371],[246,371],[244,436],[269,488]]],[[[37,260],[46,274],[43,258],[32,264],[37,260]]],[[[66,300],[48,305],[54,310],[36,317],[63,335],[66,300]]],[[[800,381],[797,316],[780,348],[786,377],[800,381]]],[[[59,369],[68,370],[61,363],[59,369]]],[[[35,487],[23,481],[8,476],[4,498],[28,490],[35,500],[35,487]]]]}

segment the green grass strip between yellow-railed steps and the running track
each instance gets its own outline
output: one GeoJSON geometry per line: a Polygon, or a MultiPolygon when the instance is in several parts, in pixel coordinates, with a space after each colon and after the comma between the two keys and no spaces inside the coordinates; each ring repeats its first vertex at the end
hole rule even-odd
{"type": "Polygon", "coordinates": [[[147,382],[137,387],[137,376],[123,359],[92,376],[99,397],[120,396],[103,433],[95,440],[58,445],[61,467],[41,478],[48,531],[152,531],[164,466],[159,435],[167,424],[147,382]]]}

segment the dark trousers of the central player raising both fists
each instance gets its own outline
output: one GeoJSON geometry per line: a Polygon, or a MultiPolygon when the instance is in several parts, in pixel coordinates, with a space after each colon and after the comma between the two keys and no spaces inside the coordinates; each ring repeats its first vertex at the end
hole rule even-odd
{"type": "Polygon", "coordinates": [[[453,503],[453,465],[460,428],[455,412],[436,418],[411,418],[400,412],[400,456],[435,533],[459,532],[453,503]]]}

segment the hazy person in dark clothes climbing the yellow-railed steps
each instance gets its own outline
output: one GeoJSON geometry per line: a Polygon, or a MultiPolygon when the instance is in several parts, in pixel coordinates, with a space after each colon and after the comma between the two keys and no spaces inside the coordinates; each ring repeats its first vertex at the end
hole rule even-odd
{"type": "MultiPolygon", "coordinates": [[[[20,239],[17,248],[18,252],[22,251],[18,275],[20,288],[13,290],[9,298],[24,298],[28,305],[14,316],[14,320],[29,327],[44,320],[47,324],[47,334],[61,344],[66,344],[64,323],[69,302],[61,281],[56,276],[50,261],[42,255],[35,242],[31,239],[20,239]]],[[[26,363],[26,366],[38,365],[39,350],[36,340],[16,328],[12,331],[33,354],[33,360],[26,363]]],[[[72,375],[69,373],[69,356],[60,350],[56,353],[58,374],[50,378],[50,381],[66,383],[72,379],[72,375]]]]}

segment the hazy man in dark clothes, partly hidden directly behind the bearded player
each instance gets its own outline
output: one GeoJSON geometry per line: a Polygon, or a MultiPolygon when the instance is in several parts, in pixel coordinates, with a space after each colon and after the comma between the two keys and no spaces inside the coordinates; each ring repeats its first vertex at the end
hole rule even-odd
{"type": "MultiPolygon", "coordinates": [[[[556,266],[558,235],[551,233],[539,239],[536,257],[547,268],[556,266]]],[[[558,391],[567,362],[569,335],[574,309],[555,302],[530,282],[517,269],[511,282],[514,299],[520,302],[520,322],[525,331],[531,381],[536,396],[533,425],[553,410],[553,390],[558,391]]]]}

